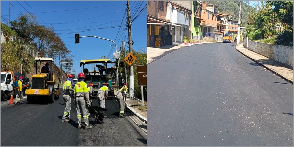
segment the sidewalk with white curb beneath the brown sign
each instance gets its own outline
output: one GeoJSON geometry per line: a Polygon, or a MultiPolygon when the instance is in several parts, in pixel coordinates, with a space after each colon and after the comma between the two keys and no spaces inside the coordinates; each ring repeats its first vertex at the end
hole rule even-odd
{"type": "MultiPolygon", "coordinates": [[[[114,88],[114,95],[117,94],[117,89],[114,88]]],[[[134,104],[137,104],[137,103],[140,103],[140,101],[134,99],[134,98],[129,98],[127,97],[126,98],[126,103],[127,103],[127,108],[133,112],[141,121],[144,121],[145,123],[147,123],[147,110],[146,110],[146,113],[144,112],[140,112],[140,111],[137,111],[136,108],[133,108],[132,105],[134,104]]],[[[146,105],[146,103],[144,103],[144,105],[146,105]]]]}

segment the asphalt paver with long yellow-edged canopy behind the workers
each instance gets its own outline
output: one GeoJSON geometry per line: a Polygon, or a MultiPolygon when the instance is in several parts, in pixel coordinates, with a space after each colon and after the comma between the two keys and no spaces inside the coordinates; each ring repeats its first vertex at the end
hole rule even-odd
{"type": "Polygon", "coordinates": [[[110,61],[109,59],[95,59],[95,60],[81,60],[80,67],[83,65],[83,74],[85,75],[85,82],[87,85],[90,83],[93,84],[93,95],[92,97],[96,97],[99,91],[99,88],[102,87],[103,83],[107,83],[108,86],[108,99],[115,98],[114,97],[114,89],[112,87],[112,80],[114,75],[114,69],[109,68],[107,69],[107,63],[116,63],[116,61],[110,61]],[[93,71],[89,71],[85,69],[85,64],[104,64],[106,66],[105,75],[101,76],[100,69],[96,72],[96,67],[94,66],[93,71]]]}

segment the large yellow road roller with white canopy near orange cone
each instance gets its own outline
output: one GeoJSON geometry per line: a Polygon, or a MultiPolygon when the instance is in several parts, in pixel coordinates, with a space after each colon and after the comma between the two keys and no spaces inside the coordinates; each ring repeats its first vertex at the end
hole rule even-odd
{"type": "Polygon", "coordinates": [[[27,101],[29,103],[34,103],[37,98],[43,99],[48,103],[53,103],[54,99],[58,98],[61,94],[61,89],[59,88],[59,84],[55,84],[54,75],[52,71],[52,58],[35,58],[36,61],[36,74],[32,76],[31,86],[26,89],[27,101]],[[50,62],[50,69],[48,71],[46,69],[41,69],[38,73],[38,61],[40,65],[42,62],[50,62]]]}

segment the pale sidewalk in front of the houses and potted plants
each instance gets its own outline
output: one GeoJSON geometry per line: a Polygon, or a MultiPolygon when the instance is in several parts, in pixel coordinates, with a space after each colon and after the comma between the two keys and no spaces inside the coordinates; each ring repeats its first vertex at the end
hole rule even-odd
{"type": "MultiPolygon", "coordinates": [[[[202,42],[199,44],[208,44],[208,43],[218,43],[222,41],[217,41],[217,42],[202,42]]],[[[193,45],[198,45],[196,44],[188,44],[184,45],[183,43],[181,44],[175,44],[175,45],[166,45],[166,46],[161,46],[161,47],[147,47],[147,64],[150,64],[151,62],[154,62],[161,57],[173,52],[174,50],[183,48],[183,47],[188,47],[188,46],[193,46],[193,45]]]]}

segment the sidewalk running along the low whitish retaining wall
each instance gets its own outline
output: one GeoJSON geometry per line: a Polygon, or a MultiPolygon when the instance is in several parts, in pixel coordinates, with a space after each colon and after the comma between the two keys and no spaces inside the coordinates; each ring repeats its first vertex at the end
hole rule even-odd
{"type": "Polygon", "coordinates": [[[268,59],[267,57],[257,54],[248,49],[245,49],[243,44],[240,44],[240,46],[235,46],[235,49],[244,56],[257,62],[258,64],[264,66],[266,69],[272,71],[274,74],[283,77],[285,80],[293,84],[293,69],[289,69],[283,64],[268,59]]]}

